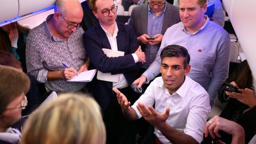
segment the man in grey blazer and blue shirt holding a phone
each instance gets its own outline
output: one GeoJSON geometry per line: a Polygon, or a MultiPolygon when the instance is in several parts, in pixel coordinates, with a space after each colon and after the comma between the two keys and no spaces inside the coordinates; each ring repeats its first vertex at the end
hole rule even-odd
{"type": "Polygon", "coordinates": [[[165,0],[148,0],[148,3],[132,9],[129,24],[134,28],[137,40],[146,56],[146,63],[143,63],[139,76],[156,58],[167,28],[178,22],[180,22],[178,7],[165,0]]]}

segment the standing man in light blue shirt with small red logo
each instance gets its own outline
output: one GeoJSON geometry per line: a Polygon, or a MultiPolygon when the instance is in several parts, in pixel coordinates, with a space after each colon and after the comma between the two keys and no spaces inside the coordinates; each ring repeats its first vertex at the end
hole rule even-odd
{"type": "Polygon", "coordinates": [[[204,15],[206,0],[180,0],[180,19],[182,22],[167,29],[154,62],[134,81],[141,87],[160,73],[160,52],[171,44],[187,48],[191,56],[190,78],[198,82],[210,95],[212,106],[217,91],[228,77],[230,58],[230,37],[221,26],[211,22],[204,15]]]}

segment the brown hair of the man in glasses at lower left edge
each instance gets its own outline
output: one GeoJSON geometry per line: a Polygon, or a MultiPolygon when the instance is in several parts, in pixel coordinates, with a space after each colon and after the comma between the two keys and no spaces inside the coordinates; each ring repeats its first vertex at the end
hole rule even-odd
{"type": "Polygon", "coordinates": [[[10,66],[0,65],[0,114],[22,92],[26,94],[29,88],[30,79],[24,72],[10,66]]]}

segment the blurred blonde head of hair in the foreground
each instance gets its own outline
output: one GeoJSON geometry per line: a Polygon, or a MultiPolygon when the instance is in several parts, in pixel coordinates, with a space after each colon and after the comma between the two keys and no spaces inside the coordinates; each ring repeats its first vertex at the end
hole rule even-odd
{"type": "Polygon", "coordinates": [[[100,107],[84,94],[63,94],[27,120],[22,144],[104,144],[106,131],[100,107]]]}

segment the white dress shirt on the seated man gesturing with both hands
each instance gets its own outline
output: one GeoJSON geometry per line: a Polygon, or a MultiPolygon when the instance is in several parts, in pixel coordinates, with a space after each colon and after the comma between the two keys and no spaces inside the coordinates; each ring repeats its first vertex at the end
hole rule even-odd
{"type": "MultiPolygon", "coordinates": [[[[176,130],[190,135],[198,143],[202,142],[208,113],[211,111],[209,95],[191,78],[186,76],[182,86],[172,95],[165,88],[161,77],[154,79],[145,93],[132,105],[138,118],[141,118],[142,115],[136,107],[138,102],[146,106],[156,103],[155,109],[159,113],[164,113],[166,107],[169,107],[167,123],[176,130]]],[[[154,134],[163,144],[171,144],[158,129],[155,128],[154,134]]]]}

